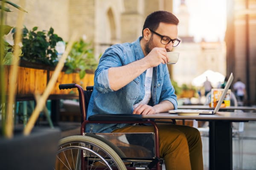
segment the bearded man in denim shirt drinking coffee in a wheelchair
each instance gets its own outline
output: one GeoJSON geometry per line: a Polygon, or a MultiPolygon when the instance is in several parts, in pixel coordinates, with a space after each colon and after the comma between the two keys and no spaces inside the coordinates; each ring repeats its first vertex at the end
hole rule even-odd
{"type": "MultiPolygon", "coordinates": [[[[179,20],[167,11],[148,15],[143,37],[113,45],[102,55],[95,71],[94,91],[87,116],[108,113],[154,114],[177,109],[169,78],[167,51],[177,46],[179,20]]],[[[202,142],[197,129],[158,125],[160,156],[167,170],[203,170],[202,142]]],[[[87,125],[87,132],[152,132],[147,125],[87,125]]]]}

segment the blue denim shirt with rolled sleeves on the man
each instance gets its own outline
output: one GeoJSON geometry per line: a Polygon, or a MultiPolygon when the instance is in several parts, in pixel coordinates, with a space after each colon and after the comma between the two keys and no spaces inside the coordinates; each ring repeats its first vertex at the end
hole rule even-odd
{"type": "MultiPolygon", "coordinates": [[[[108,69],[120,67],[144,57],[139,37],[135,42],[116,44],[108,48],[99,61],[95,71],[94,88],[87,110],[87,119],[95,114],[132,114],[133,105],[142,101],[145,95],[146,70],[139,77],[119,89],[113,91],[109,85],[108,69]]],[[[163,100],[172,102],[177,109],[177,97],[169,78],[166,64],[153,68],[151,84],[151,100],[148,105],[154,106],[163,100]]],[[[129,124],[88,124],[86,132],[109,133],[129,124]]]]}

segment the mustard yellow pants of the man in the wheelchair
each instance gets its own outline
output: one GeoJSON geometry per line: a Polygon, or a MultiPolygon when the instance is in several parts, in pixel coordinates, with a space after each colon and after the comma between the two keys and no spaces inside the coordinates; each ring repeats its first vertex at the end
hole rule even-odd
{"type": "MultiPolygon", "coordinates": [[[[160,157],[166,170],[203,170],[202,141],[194,127],[172,124],[157,125],[160,157]]],[[[134,125],[116,129],[113,133],[154,132],[154,127],[134,125]]]]}

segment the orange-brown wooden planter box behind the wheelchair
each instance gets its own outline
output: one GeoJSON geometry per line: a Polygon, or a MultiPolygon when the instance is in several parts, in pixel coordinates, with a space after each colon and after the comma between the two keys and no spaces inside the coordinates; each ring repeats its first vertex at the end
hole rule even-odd
{"type": "MultiPolygon", "coordinates": [[[[10,70],[12,65],[5,65],[4,77],[6,94],[9,91],[9,88],[12,86],[10,84],[10,70]]],[[[28,98],[33,98],[35,93],[43,94],[47,83],[51,78],[54,72],[54,68],[45,65],[39,65],[36,63],[30,62],[21,62],[18,67],[17,75],[17,99],[26,100],[28,98]]],[[[65,74],[64,71],[59,74],[58,80],[55,84],[55,87],[52,89],[51,95],[75,95],[78,96],[78,91],[76,89],[69,90],[59,90],[58,85],[64,83],[76,83],[81,85],[84,89],[88,85],[93,85],[94,73],[87,73],[83,79],[79,78],[78,73],[65,74]]]]}

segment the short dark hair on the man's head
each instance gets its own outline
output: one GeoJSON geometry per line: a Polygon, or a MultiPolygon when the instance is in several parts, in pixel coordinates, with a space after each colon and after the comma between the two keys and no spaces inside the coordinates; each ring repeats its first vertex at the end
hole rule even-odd
{"type": "Polygon", "coordinates": [[[143,29],[142,29],[142,36],[143,36],[143,30],[145,28],[149,28],[155,31],[158,28],[159,23],[168,23],[168,24],[178,25],[179,20],[171,12],[155,11],[149,14],[148,17],[146,17],[146,20],[144,22],[143,29]]]}

